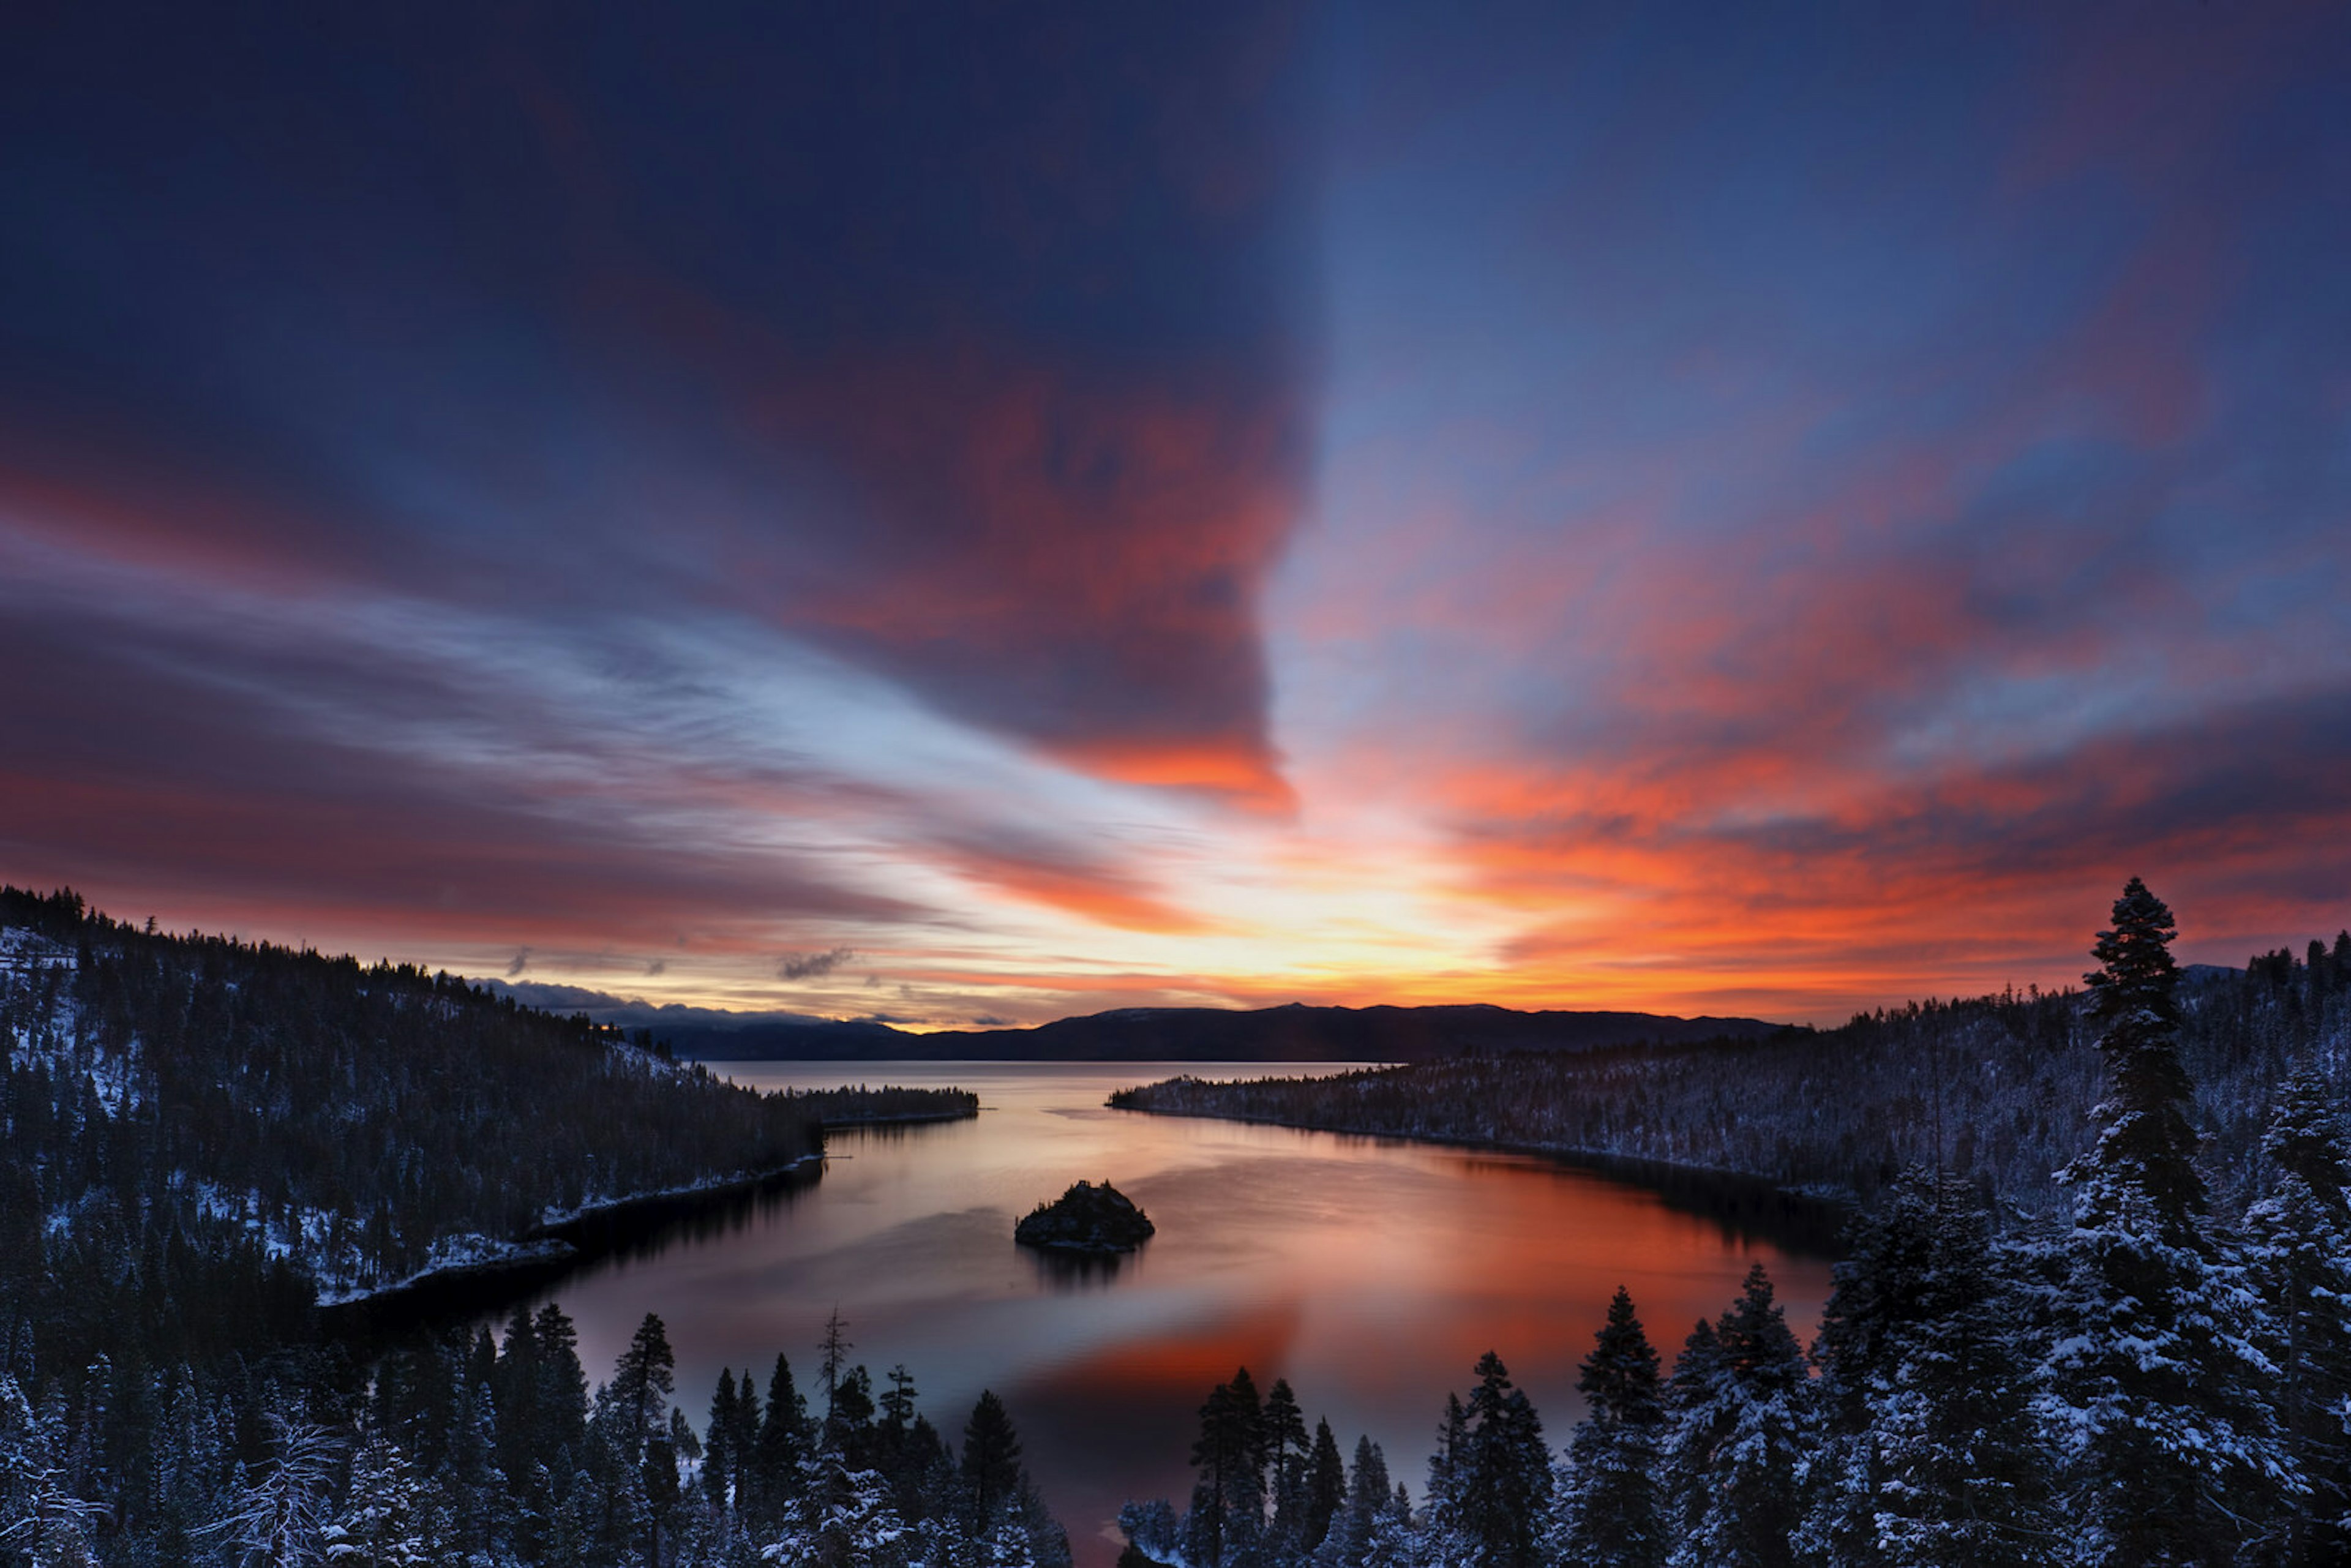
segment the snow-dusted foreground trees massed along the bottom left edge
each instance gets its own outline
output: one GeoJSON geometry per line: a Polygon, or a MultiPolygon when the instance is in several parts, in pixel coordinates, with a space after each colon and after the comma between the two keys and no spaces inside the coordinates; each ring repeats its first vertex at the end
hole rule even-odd
{"type": "Polygon", "coordinates": [[[957,1453],[884,1387],[839,1314],[802,1394],[722,1371],[708,1422],[672,1401],[647,1314],[590,1392],[560,1307],[501,1335],[444,1333],[369,1373],[261,1371],[245,1399],[108,1378],[78,1413],[0,1373],[0,1554],[52,1563],[240,1568],[1067,1568],[1070,1544],[983,1392],[957,1453]]]}

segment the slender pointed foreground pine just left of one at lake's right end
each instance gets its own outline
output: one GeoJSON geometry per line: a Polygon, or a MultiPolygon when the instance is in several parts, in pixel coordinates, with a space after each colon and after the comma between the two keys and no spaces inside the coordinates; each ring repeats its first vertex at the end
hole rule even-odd
{"type": "Polygon", "coordinates": [[[1582,1568],[1662,1568],[1665,1394],[1657,1352],[1625,1286],[1608,1302],[1575,1389],[1585,1396],[1585,1420],[1568,1443],[1559,1556],[1582,1568]]]}

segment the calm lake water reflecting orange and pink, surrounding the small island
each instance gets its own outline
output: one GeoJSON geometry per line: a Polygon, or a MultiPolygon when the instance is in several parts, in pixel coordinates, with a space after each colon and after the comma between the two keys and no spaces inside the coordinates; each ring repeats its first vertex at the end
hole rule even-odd
{"type": "Polygon", "coordinates": [[[1183,1507],[1208,1387],[1248,1366],[1288,1378],[1307,1427],[1359,1432],[1420,1495],[1446,1389],[1498,1349],[1554,1446],[1580,1408],[1575,1366],[1625,1284],[1660,1352],[1719,1314],[1766,1262],[1810,1340],[1827,1260],[1540,1159],[1105,1110],[1112,1088],[1176,1072],[1335,1067],[1199,1063],[710,1063],[759,1088],[959,1084],[976,1121],[832,1138],[825,1175],[736,1222],[677,1234],[550,1288],[578,1321],[590,1378],[658,1312],[677,1396],[701,1425],[722,1366],[776,1352],[813,1385],[835,1307],[875,1382],[915,1373],[922,1408],[962,1439],[983,1387],[1020,1429],[1079,1568],[1117,1556],[1128,1497],[1183,1507]],[[1159,1234],[1112,1272],[1070,1274],[1016,1248],[1013,1220],[1074,1180],[1112,1180],[1159,1234]]]}

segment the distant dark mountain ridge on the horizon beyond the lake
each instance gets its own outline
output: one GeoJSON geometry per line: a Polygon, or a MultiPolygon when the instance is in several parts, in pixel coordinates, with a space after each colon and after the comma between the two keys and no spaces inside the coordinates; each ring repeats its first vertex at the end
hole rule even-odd
{"type": "MultiPolygon", "coordinates": [[[[595,1009],[588,1009],[597,1016],[595,1009]]],[[[1427,1063],[1502,1051],[1587,1051],[1634,1041],[1761,1039],[1756,1018],[1662,1013],[1519,1013],[1507,1006],[1213,1006],[1117,1009],[1034,1030],[915,1034],[886,1023],[823,1023],[698,1011],[661,1020],[677,1056],[701,1060],[1041,1060],[1041,1063],[1427,1063]]]]}

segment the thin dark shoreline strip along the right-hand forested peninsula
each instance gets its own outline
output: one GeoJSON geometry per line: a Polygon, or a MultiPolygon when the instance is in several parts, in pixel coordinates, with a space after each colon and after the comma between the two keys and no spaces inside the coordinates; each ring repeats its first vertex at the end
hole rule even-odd
{"type": "Polygon", "coordinates": [[[1244,1117],[1204,1110],[1159,1110],[1152,1105],[1112,1105],[1136,1117],[1178,1117],[1192,1121],[1241,1121],[1248,1126],[1286,1126],[1295,1133],[1331,1133],[1333,1138],[1371,1138],[1375,1143],[1411,1143],[1432,1150],[1465,1150],[1472,1154],[1526,1154],[1570,1171],[1639,1187],[1655,1194],[1669,1208],[1714,1220],[1726,1229],[1754,1229],[1773,1241],[1784,1241],[1822,1258],[1843,1255],[1843,1232],[1860,1213],[1853,1194],[1803,1192],[1784,1187],[1768,1175],[1751,1171],[1719,1171],[1714,1166],[1688,1166],[1672,1159],[1648,1159],[1641,1154],[1613,1154],[1608,1150],[1580,1150],[1547,1143],[1512,1143],[1507,1138],[1451,1138],[1441,1133],[1389,1133],[1354,1126],[1328,1126],[1319,1121],[1295,1121],[1288,1117],[1244,1117]]]}

